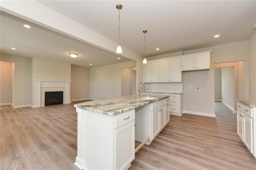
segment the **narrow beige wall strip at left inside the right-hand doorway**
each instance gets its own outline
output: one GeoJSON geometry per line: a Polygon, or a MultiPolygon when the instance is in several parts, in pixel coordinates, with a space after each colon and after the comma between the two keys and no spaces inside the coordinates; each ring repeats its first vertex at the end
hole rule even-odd
{"type": "Polygon", "coordinates": [[[214,69],[214,96],[215,101],[221,101],[221,68],[214,69]]]}

